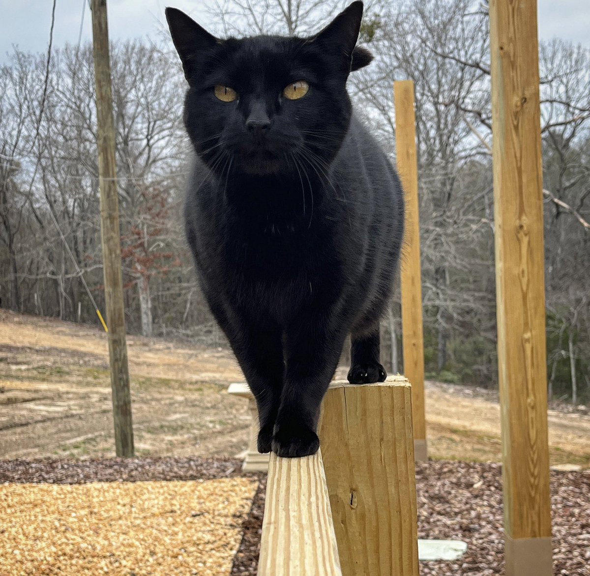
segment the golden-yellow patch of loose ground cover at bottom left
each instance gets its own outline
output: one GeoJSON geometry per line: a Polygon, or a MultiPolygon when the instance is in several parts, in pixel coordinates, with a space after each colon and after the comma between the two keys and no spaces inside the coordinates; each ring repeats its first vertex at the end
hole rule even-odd
{"type": "Polygon", "coordinates": [[[0,573],[230,574],[257,480],[0,486],[0,573]]]}

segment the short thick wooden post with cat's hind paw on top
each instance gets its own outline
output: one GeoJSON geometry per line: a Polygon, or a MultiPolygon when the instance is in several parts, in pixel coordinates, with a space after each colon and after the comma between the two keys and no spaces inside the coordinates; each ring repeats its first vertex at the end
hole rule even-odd
{"type": "Polygon", "coordinates": [[[412,393],[406,378],[364,386],[331,383],[319,435],[342,575],[418,576],[412,393]]]}

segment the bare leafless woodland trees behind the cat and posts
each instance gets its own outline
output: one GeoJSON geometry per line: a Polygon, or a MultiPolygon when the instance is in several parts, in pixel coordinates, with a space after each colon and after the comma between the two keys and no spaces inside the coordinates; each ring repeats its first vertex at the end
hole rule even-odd
{"type": "MultiPolygon", "coordinates": [[[[319,0],[209,0],[219,35],[309,34],[319,0]]],[[[497,386],[489,15],[471,0],[366,5],[375,61],[349,91],[395,160],[392,83],[415,82],[427,377],[497,386]]],[[[541,42],[550,396],[590,399],[590,50],[541,42]]],[[[127,328],[222,345],[182,233],[185,80],[166,31],[112,45],[127,328]]],[[[0,67],[0,306],[98,324],[104,310],[91,45],[0,67]],[[60,232],[61,231],[61,232],[60,232]],[[63,237],[62,237],[63,235],[63,237]],[[75,264],[74,264],[75,261],[75,264]]],[[[382,356],[402,370],[399,291],[382,356]],[[393,343],[393,345],[392,345],[393,343]]]]}

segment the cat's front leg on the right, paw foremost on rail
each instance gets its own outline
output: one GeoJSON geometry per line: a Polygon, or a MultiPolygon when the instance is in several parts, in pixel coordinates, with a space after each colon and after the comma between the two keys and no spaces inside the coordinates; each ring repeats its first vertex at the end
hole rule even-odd
{"type": "Polygon", "coordinates": [[[330,328],[326,317],[291,322],[287,328],[283,391],[273,435],[277,456],[317,452],[320,404],[336,371],[345,336],[345,330],[330,328]]]}

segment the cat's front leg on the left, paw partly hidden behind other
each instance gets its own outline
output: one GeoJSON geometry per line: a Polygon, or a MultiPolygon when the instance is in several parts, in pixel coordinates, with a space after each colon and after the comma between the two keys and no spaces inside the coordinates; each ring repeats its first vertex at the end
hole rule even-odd
{"type": "Polygon", "coordinates": [[[258,407],[258,452],[271,450],[283,387],[283,344],[278,326],[257,325],[248,318],[211,307],[227,335],[258,407]]]}

